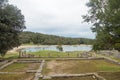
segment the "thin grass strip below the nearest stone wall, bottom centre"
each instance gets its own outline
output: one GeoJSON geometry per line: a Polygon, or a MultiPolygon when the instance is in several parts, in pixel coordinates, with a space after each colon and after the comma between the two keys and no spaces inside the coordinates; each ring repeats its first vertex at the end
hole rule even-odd
{"type": "MultiPolygon", "coordinates": [[[[39,80],[44,80],[44,79],[39,79],[39,80]]],[[[95,79],[93,79],[92,76],[87,76],[87,77],[52,78],[52,79],[48,79],[48,80],[95,80],[95,79]]]]}

